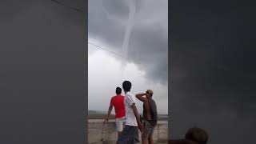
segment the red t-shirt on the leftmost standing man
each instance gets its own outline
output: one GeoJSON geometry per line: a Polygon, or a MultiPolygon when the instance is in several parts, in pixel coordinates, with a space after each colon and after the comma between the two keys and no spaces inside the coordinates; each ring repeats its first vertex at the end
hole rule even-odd
{"type": "Polygon", "coordinates": [[[122,95],[116,95],[111,98],[110,102],[114,106],[115,118],[122,118],[126,115],[124,99],[125,97],[122,95]]]}

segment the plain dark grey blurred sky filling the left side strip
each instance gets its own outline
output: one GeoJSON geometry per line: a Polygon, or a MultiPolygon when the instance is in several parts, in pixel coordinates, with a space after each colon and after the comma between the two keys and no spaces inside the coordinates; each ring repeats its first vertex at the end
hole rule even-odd
{"type": "Polygon", "coordinates": [[[50,0],[0,11],[0,143],[84,142],[85,14],[50,0]]]}

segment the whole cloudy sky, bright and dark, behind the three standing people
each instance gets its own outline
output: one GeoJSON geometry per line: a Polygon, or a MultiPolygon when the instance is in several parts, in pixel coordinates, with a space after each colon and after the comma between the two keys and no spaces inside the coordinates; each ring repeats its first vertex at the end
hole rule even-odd
{"type": "MultiPolygon", "coordinates": [[[[154,90],[159,113],[168,112],[168,9],[167,0],[159,2],[90,0],[88,5],[88,38],[99,50],[88,45],[89,110],[107,110],[110,97],[122,81],[132,82],[134,94],[154,90]],[[128,3],[126,3],[128,2],[128,3]],[[128,22],[130,4],[134,4],[134,18],[128,22]],[[131,24],[127,55],[122,43],[128,23],[131,24]],[[124,72],[122,72],[124,71],[124,72]],[[100,105],[98,103],[101,103],[100,105]]],[[[138,109],[142,112],[142,103],[138,109]]]]}

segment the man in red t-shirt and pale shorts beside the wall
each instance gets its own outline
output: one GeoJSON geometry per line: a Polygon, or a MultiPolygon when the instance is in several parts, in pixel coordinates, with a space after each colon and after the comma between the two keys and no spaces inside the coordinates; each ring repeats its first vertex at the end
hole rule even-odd
{"type": "Polygon", "coordinates": [[[110,107],[108,114],[106,115],[105,122],[108,122],[108,119],[110,117],[110,113],[112,111],[112,108],[114,106],[114,111],[115,111],[115,125],[116,129],[118,131],[118,137],[122,132],[124,122],[125,122],[125,115],[126,115],[126,110],[125,110],[125,104],[124,104],[124,96],[122,96],[122,89],[120,87],[117,87],[115,90],[116,94],[113,96],[110,100],[110,107]]]}

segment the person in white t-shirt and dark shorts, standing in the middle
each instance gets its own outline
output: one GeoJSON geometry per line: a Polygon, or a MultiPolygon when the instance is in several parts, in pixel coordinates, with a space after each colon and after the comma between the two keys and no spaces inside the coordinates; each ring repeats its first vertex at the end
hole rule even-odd
{"type": "Polygon", "coordinates": [[[122,130],[117,144],[134,144],[139,142],[138,129],[142,131],[142,123],[138,116],[138,110],[135,106],[135,96],[130,92],[131,83],[129,81],[122,82],[122,89],[125,91],[125,107],[126,107],[126,125],[122,130]]]}

